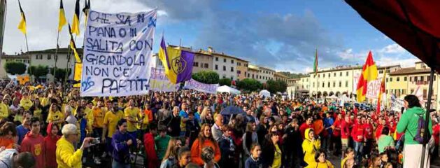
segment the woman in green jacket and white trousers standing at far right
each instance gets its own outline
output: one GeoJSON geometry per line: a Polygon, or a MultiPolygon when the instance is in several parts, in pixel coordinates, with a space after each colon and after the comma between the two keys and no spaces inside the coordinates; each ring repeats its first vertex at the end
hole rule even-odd
{"type": "MultiPolygon", "coordinates": [[[[420,161],[422,160],[420,153],[422,153],[423,146],[414,140],[418,130],[419,118],[425,118],[426,111],[420,105],[418,97],[415,95],[407,95],[404,98],[405,113],[400,117],[399,123],[397,123],[397,132],[405,133],[404,141],[404,167],[420,167],[420,161]],[[411,153],[417,153],[411,154],[411,153]]],[[[429,119],[428,130],[432,134],[432,121],[429,119]]],[[[428,150],[425,150],[425,167],[430,167],[428,150]]]]}

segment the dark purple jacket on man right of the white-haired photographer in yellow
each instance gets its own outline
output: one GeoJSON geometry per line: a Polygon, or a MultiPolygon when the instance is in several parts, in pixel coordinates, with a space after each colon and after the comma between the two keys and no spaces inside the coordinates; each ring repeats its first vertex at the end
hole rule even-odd
{"type": "Polygon", "coordinates": [[[122,164],[129,164],[129,146],[127,145],[127,141],[129,139],[132,139],[133,144],[132,146],[136,146],[136,139],[132,137],[132,135],[123,134],[119,130],[113,134],[113,138],[111,141],[111,145],[113,146],[113,159],[116,161],[122,163],[122,164]]]}

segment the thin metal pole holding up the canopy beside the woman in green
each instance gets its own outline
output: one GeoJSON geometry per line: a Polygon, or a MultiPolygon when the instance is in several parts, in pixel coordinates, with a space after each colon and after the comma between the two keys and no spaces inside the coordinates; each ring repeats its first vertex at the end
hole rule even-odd
{"type": "MultiPolygon", "coordinates": [[[[435,53],[435,52],[434,52],[435,53]]],[[[428,87],[428,102],[426,104],[426,113],[425,113],[425,132],[429,132],[430,131],[430,126],[429,126],[429,121],[431,120],[430,118],[430,109],[431,109],[431,99],[432,99],[432,84],[434,82],[434,67],[431,67],[431,73],[430,73],[430,87],[428,87]]],[[[420,168],[423,168],[425,166],[425,150],[426,150],[426,142],[427,139],[429,139],[429,137],[427,137],[428,134],[425,133],[423,134],[423,148],[422,148],[422,160],[420,160],[420,168]]]]}

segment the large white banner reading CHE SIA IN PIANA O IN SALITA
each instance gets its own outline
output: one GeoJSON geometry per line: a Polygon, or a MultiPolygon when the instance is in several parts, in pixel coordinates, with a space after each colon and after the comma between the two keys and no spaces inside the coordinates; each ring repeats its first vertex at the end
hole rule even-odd
{"type": "Polygon", "coordinates": [[[157,10],[90,10],[85,30],[82,97],[146,94],[152,67],[157,10]]]}

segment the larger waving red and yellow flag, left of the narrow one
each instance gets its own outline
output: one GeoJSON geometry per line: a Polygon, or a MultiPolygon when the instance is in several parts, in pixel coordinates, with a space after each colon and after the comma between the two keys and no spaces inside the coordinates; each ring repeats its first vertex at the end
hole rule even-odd
{"type": "Polygon", "coordinates": [[[365,100],[365,94],[367,94],[368,83],[377,78],[377,66],[374,64],[373,54],[371,51],[368,53],[367,61],[365,61],[362,67],[362,73],[360,74],[359,82],[356,87],[357,102],[363,102],[365,100]]]}

